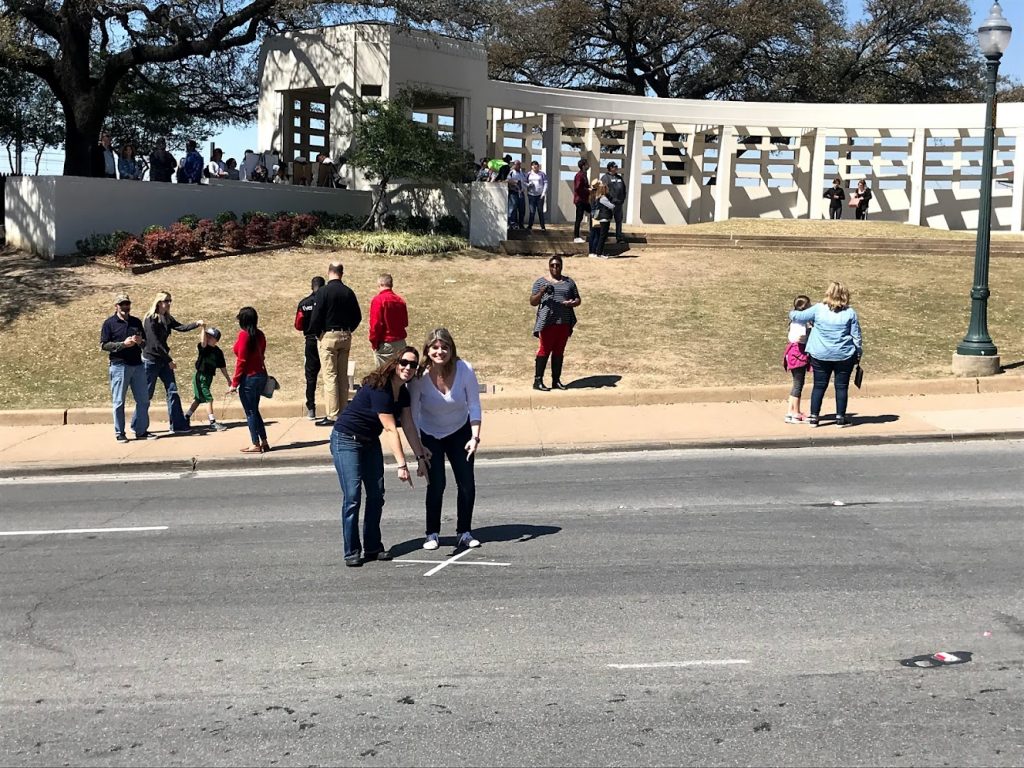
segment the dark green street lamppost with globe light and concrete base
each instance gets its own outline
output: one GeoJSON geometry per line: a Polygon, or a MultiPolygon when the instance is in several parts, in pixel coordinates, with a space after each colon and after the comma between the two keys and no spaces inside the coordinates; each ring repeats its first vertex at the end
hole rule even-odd
{"type": "Polygon", "coordinates": [[[981,205],[978,239],[974,251],[974,287],[971,289],[971,325],[953,354],[953,373],[961,376],[991,376],[999,372],[999,357],[988,335],[988,254],[992,224],[992,148],[995,143],[995,77],[999,59],[1010,45],[1013,29],[1002,16],[998,0],[992,3],[981,27],[978,45],[988,59],[985,78],[985,141],[981,157],[981,205]]]}

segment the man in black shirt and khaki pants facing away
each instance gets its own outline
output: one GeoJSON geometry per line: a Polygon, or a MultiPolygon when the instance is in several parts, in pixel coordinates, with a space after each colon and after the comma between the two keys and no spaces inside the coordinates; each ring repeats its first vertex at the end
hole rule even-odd
{"type": "Polygon", "coordinates": [[[344,272],[340,262],[328,267],[327,285],[316,292],[316,306],[309,318],[309,333],[319,344],[327,408],[324,424],[333,424],[348,401],[348,351],[352,347],[352,332],[362,322],[355,294],[341,282],[344,272]]]}

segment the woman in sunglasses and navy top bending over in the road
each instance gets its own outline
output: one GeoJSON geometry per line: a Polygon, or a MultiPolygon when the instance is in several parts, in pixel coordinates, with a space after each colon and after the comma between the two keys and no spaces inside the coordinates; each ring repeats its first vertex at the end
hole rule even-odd
{"type": "Polygon", "coordinates": [[[381,513],[384,509],[384,453],[380,436],[387,442],[397,464],[398,479],[413,485],[406,463],[395,417],[401,417],[402,431],[417,459],[417,474],[426,476],[430,452],[420,442],[420,430],[413,421],[406,384],[416,375],[420,354],[406,347],[389,362],[362,380],[362,386],[338,416],[331,433],[331,456],[338,472],[343,497],[341,532],[345,541],[345,565],[357,567],[365,560],[390,560],[391,553],[381,541],[381,513]],[[367,492],[367,511],[359,542],[359,502],[367,492]]]}

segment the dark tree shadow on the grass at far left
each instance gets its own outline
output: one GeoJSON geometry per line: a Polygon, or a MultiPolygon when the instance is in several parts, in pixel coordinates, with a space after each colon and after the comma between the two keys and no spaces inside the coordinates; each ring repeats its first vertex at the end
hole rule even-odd
{"type": "MultiPolygon", "coordinates": [[[[46,261],[13,249],[0,252],[0,325],[13,323],[26,311],[37,313],[44,304],[63,304],[82,293],[71,267],[81,259],[46,261]]],[[[111,298],[113,301],[113,297],[111,298]]],[[[114,305],[110,307],[114,313],[114,305]]],[[[103,318],[96,319],[96,328],[103,318]]]]}

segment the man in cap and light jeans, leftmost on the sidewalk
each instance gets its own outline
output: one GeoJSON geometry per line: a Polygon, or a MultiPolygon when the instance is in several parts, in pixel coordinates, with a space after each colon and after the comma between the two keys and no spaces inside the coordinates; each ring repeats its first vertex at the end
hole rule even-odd
{"type": "Polygon", "coordinates": [[[142,321],[131,315],[128,294],[118,294],[114,299],[115,312],[99,329],[99,348],[110,354],[111,399],[114,406],[114,437],[118,442],[128,442],[125,435],[125,401],[131,389],[135,398],[135,413],[131,429],[136,439],[155,439],[150,432],[150,385],[142,367],[142,345],[145,333],[142,321]]]}

